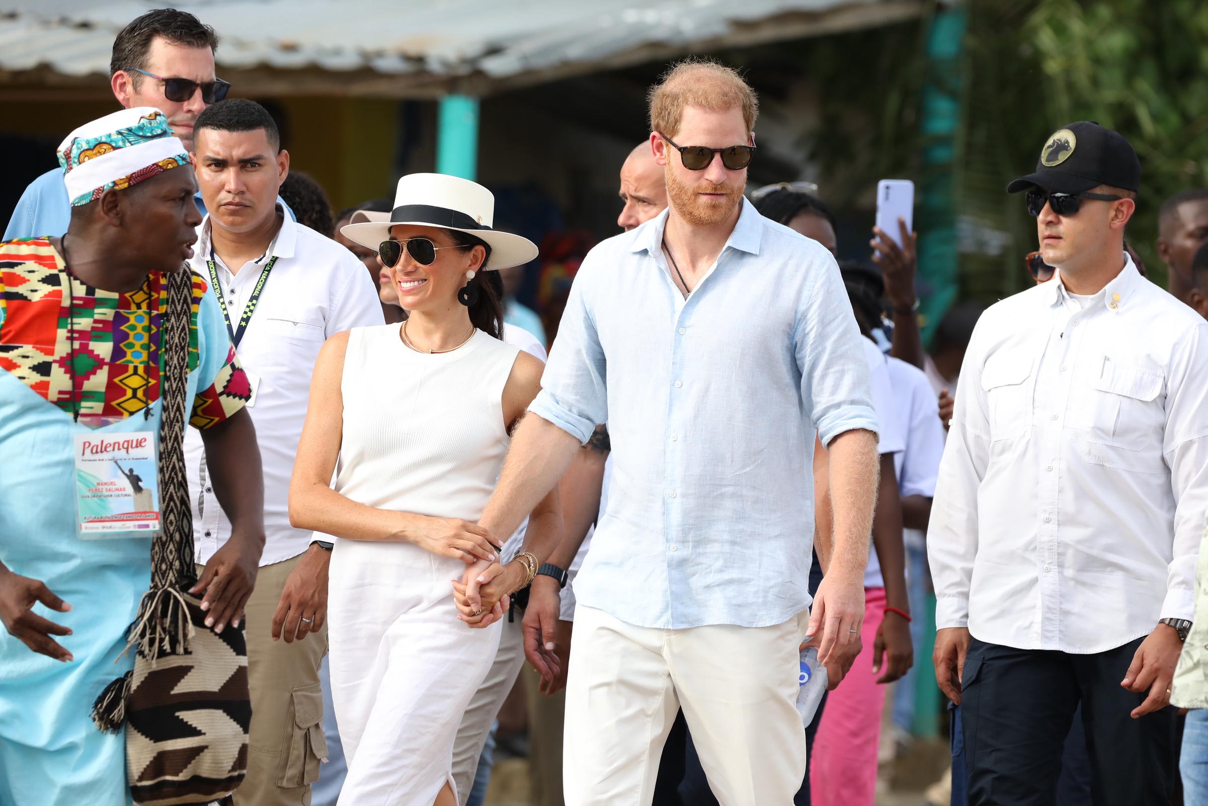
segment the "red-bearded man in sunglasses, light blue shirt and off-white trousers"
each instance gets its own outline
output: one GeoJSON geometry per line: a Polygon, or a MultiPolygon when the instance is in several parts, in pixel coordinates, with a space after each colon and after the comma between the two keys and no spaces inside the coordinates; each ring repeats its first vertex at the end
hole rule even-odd
{"type": "MultiPolygon", "coordinates": [[[[669,208],[585,258],[480,522],[511,533],[606,420],[609,503],[575,580],[565,802],[649,805],[683,706],[721,804],[789,804],[806,766],[798,644],[817,636],[829,661],[864,615],[869,364],[830,252],[743,198],[750,87],[693,59],[650,99],[669,208]],[[815,428],[836,555],[807,624],[815,428]]],[[[486,607],[507,582],[493,565],[467,595],[486,607]]]]}

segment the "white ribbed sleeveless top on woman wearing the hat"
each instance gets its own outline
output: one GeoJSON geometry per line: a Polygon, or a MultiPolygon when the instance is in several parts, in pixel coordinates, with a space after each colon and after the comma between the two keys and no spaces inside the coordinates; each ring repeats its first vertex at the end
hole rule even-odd
{"type": "Polygon", "coordinates": [[[504,386],[519,352],[482,331],[416,352],[399,325],[349,332],[333,489],[379,509],[477,521],[511,442],[504,386]]]}

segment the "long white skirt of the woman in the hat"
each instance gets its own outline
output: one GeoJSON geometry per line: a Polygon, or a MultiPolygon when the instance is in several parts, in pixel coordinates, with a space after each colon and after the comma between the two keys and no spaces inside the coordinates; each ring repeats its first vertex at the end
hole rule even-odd
{"type": "MultiPolygon", "coordinates": [[[[337,541],[327,594],[331,694],[348,777],[339,806],[431,806],[500,625],[457,619],[460,560],[410,543],[337,541]]],[[[454,787],[455,790],[455,787],[454,787]]]]}

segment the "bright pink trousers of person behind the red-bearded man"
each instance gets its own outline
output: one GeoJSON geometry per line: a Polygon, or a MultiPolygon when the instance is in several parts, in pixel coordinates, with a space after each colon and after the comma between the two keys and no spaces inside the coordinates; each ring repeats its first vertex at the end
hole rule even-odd
{"type": "MultiPolygon", "coordinates": [[[[852,671],[826,697],[809,757],[813,806],[873,806],[877,794],[877,746],[885,687],[872,673],[872,643],[885,615],[885,589],[864,589],[864,626],[852,671]]],[[[882,670],[884,671],[884,670],[882,670]]]]}

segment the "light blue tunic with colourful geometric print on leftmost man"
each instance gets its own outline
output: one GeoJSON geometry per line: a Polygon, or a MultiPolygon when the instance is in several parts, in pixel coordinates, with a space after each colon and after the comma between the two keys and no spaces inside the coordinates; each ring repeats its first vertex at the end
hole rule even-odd
{"type": "MultiPolygon", "coordinates": [[[[88,713],[134,665],[122,649],[151,537],[80,535],[72,445],[93,425],[158,444],[164,304],[159,274],[114,293],[72,278],[46,239],[0,243],[0,561],[71,604],[34,612],[72,630],[58,641],[74,656],[35,654],[0,630],[0,804],[130,806],[124,732],[100,732],[88,713]]],[[[196,274],[188,352],[191,421],[213,427],[244,405],[248,380],[196,274]]]]}

